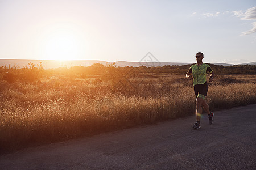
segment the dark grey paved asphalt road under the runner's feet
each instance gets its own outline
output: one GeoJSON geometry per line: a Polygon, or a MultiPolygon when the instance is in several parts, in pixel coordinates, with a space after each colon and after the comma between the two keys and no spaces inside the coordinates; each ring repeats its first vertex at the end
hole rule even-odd
{"type": "Polygon", "coordinates": [[[256,105],[27,148],[0,169],[255,169],[256,105]]]}

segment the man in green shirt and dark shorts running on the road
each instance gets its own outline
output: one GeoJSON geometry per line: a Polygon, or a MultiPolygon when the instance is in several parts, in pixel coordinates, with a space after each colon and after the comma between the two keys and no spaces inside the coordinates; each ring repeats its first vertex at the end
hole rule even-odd
{"type": "Polygon", "coordinates": [[[195,65],[192,65],[186,74],[186,78],[193,77],[193,86],[196,95],[196,123],[193,125],[193,128],[195,129],[199,129],[201,127],[200,118],[201,114],[203,113],[203,108],[208,114],[210,124],[212,124],[214,116],[214,114],[210,112],[209,105],[205,101],[205,97],[207,96],[208,91],[206,74],[207,72],[210,73],[209,82],[212,82],[214,78],[214,73],[209,65],[203,63],[203,58],[203,53],[196,53],[197,63],[195,65]]]}

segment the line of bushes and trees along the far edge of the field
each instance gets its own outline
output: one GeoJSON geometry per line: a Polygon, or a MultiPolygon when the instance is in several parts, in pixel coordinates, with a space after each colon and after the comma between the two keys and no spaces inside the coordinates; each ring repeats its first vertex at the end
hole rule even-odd
{"type": "MultiPolygon", "coordinates": [[[[222,66],[209,64],[214,70],[214,73],[221,74],[256,74],[255,65],[233,65],[222,66]]],[[[125,76],[131,69],[136,70],[138,74],[147,75],[175,75],[187,73],[191,65],[183,66],[161,66],[161,67],[117,67],[115,63],[110,65],[102,65],[95,63],[92,66],[73,66],[70,68],[60,67],[57,69],[43,69],[42,63],[35,65],[28,63],[28,66],[20,69],[17,65],[14,66],[1,66],[0,67],[0,80],[5,80],[9,83],[17,81],[35,82],[43,76],[51,77],[52,75],[65,75],[70,79],[86,78],[88,75],[98,75],[102,80],[110,80],[116,76],[125,76]]]]}

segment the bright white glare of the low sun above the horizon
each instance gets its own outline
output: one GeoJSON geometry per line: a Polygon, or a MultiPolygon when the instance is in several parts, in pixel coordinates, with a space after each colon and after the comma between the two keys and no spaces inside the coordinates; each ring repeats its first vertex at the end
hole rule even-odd
{"type": "Polygon", "coordinates": [[[49,60],[84,59],[86,38],[82,29],[72,23],[55,23],[42,29],[38,54],[49,60]]]}

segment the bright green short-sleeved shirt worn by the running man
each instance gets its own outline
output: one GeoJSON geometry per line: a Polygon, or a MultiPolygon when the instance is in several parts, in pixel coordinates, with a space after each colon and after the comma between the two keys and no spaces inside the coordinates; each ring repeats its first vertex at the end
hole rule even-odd
{"type": "Polygon", "coordinates": [[[213,70],[208,64],[203,63],[200,66],[192,65],[188,71],[193,74],[193,86],[195,86],[196,84],[204,84],[207,72],[212,73],[213,70]]]}

